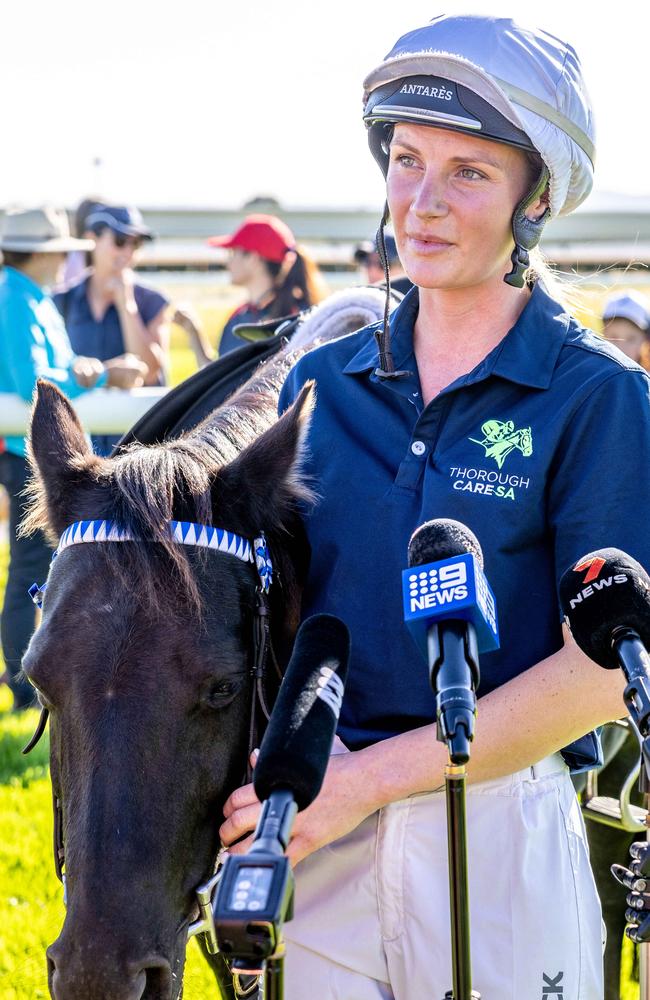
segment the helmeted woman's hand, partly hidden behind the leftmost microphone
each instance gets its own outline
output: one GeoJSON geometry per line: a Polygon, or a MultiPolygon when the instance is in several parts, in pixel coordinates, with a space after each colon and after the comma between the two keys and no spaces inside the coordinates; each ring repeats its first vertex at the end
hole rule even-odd
{"type": "MultiPolygon", "coordinates": [[[[330,757],[318,797],[296,817],[287,848],[292,865],[350,833],[378,808],[369,795],[372,783],[367,781],[362,761],[363,751],[330,757]]],[[[221,842],[231,854],[244,854],[249,849],[261,809],[252,785],[232,793],[224,806],[225,822],[219,831],[221,842]]]]}

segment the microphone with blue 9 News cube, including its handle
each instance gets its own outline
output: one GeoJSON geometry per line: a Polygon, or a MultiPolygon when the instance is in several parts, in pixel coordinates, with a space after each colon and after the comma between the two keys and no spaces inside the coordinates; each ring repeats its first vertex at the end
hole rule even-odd
{"type": "Polygon", "coordinates": [[[420,525],[402,573],[404,620],[429,666],[438,739],[466,764],[474,738],[478,654],[499,646],[494,594],[476,536],[460,521],[420,525]]]}

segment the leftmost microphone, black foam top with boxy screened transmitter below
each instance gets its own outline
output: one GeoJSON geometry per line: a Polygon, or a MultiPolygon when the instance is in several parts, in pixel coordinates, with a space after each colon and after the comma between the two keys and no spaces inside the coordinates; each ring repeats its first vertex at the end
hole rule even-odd
{"type": "Polygon", "coordinates": [[[214,902],[219,951],[233,969],[258,975],[293,916],[294,879],[284,854],[296,812],[321,790],[350,654],[340,618],[313,615],[298,629],[253,773],[263,803],[248,854],[231,854],[214,902]]]}

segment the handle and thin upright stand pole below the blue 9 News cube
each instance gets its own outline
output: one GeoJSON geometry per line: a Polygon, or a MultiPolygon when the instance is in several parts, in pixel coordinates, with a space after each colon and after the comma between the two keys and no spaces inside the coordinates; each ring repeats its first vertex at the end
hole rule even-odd
{"type": "Polygon", "coordinates": [[[472,990],[465,800],[479,680],[474,626],[465,621],[441,622],[429,629],[427,646],[431,687],[436,695],[436,738],[447,744],[449,754],[445,798],[453,989],[445,994],[445,1000],[480,1000],[480,993],[472,990]]]}

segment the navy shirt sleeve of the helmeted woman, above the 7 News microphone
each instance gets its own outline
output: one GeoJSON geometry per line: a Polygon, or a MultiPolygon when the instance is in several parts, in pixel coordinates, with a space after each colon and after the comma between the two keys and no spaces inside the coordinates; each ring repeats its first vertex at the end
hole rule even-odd
{"type": "Polygon", "coordinates": [[[594,549],[650,572],[650,379],[622,369],[577,405],[556,452],[548,503],[556,582],[594,549]]]}

